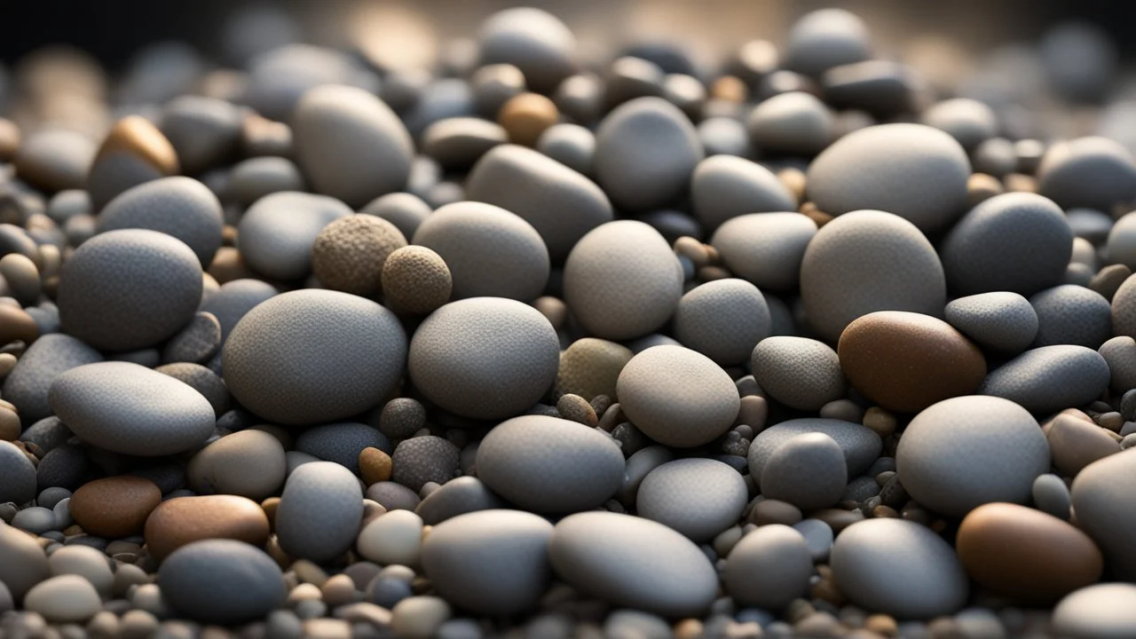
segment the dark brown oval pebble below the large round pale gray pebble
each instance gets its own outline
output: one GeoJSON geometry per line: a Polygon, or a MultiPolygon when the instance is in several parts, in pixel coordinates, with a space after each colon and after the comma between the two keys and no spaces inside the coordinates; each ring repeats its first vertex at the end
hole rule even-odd
{"type": "Polygon", "coordinates": [[[880,310],[854,320],[836,347],[852,385],[888,410],[917,413],[970,395],[986,377],[982,350],[942,320],[880,310]]]}

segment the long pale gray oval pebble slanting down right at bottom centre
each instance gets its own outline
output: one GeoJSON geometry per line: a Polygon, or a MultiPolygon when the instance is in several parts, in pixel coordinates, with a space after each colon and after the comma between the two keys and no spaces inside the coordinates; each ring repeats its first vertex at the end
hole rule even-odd
{"type": "Polygon", "coordinates": [[[556,573],[580,592],[666,616],[700,615],[718,590],[707,556],[678,532],[630,515],[578,513],[552,531],[556,573]]]}

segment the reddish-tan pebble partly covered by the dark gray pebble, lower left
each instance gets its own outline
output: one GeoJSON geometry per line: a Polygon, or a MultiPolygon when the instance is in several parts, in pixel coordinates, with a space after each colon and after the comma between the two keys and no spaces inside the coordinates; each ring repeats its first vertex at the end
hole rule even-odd
{"type": "Polygon", "coordinates": [[[162,501],[147,518],[144,538],[150,555],[161,561],[202,539],[261,546],[268,534],[268,516],[256,501],[236,495],[203,495],[162,501]]]}

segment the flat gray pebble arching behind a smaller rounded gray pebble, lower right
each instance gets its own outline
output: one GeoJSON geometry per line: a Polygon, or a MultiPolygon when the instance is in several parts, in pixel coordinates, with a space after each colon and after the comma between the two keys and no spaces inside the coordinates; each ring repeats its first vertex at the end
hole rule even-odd
{"type": "Polygon", "coordinates": [[[879,457],[884,443],[871,429],[854,422],[804,417],[769,426],[758,433],[747,455],[750,476],[761,480],[761,471],[774,453],[792,438],[804,433],[824,433],[840,445],[850,478],[859,476],[879,457]]]}

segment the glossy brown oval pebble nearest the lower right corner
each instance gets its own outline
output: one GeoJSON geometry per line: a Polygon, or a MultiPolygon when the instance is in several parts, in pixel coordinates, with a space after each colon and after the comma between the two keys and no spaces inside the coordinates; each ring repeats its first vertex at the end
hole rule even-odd
{"type": "Polygon", "coordinates": [[[1096,583],[1104,567],[1087,534],[1017,504],[975,508],[962,520],[955,545],[967,574],[984,587],[1037,601],[1096,583]]]}

